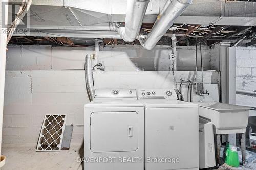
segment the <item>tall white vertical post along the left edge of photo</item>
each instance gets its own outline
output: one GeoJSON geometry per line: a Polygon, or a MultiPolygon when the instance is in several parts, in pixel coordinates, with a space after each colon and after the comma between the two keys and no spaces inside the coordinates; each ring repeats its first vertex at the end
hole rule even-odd
{"type": "MultiPolygon", "coordinates": [[[[8,3],[8,2],[7,2],[8,3]]],[[[5,23],[2,19],[8,19],[8,8],[5,8],[5,13],[2,11],[1,1],[0,5],[0,155],[2,149],[2,127],[3,127],[3,113],[4,113],[4,93],[5,93],[5,67],[6,67],[6,40],[7,40],[7,27],[2,25],[5,23]],[[5,15],[2,17],[2,15],[5,15]]],[[[8,7],[8,6],[7,6],[8,7]]],[[[1,157],[2,159],[2,157],[1,157]]],[[[3,166],[5,160],[2,160],[0,167],[3,166]]]]}

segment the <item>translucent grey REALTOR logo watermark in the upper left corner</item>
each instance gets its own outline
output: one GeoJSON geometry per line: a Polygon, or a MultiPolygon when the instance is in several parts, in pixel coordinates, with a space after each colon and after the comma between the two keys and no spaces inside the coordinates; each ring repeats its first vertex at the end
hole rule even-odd
{"type": "MultiPolygon", "coordinates": [[[[1,1],[1,25],[2,29],[1,33],[7,33],[7,29],[12,31],[13,34],[29,34],[29,26],[30,26],[30,17],[29,10],[26,7],[26,3],[22,3],[22,0],[9,0],[9,1],[1,1]],[[8,13],[7,13],[8,11],[8,13]],[[19,22],[17,29],[10,29],[12,23],[17,21],[17,17],[21,19],[20,14],[24,13],[22,20],[19,22]]],[[[10,32],[9,31],[9,32],[10,32]]]]}

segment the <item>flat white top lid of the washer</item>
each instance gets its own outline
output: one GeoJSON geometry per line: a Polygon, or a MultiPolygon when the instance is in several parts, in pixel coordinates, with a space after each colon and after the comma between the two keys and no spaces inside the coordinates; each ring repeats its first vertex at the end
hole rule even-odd
{"type": "Polygon", "coordinates": [[[198,107],[198,104],[169,99],[141,99],[146,108],[198,107]]]}

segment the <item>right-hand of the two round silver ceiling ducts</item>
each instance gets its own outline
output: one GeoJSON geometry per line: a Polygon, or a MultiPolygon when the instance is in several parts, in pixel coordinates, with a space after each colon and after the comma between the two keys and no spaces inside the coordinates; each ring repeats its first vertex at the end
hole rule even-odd
{"type": "Polygon", "coordinates": [[[193,0],[167,0],[163,10],[157,17],[154,26],[148,36],[140,35],[140,44],[147,50],[152,50],[174,21],[191,4],[193,0]]]}

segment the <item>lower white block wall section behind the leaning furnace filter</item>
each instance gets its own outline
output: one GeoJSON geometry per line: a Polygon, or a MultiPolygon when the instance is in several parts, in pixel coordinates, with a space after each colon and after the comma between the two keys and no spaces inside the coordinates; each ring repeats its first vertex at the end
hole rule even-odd
{"type": "Polygon", "coordinates": [[[45,114],[67,114],[72,142],[83,140],[83,105],[89,102],[83,70],[7,71],[3,143],[36,144],[45,114]]]}

